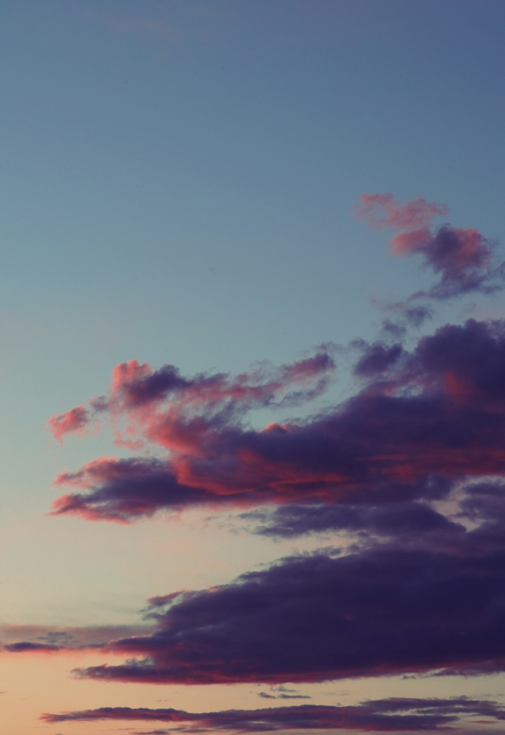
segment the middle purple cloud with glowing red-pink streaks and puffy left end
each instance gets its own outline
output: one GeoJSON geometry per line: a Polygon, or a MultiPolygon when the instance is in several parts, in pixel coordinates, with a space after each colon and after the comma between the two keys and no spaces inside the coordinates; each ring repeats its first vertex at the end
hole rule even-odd
{"type": "Polygon", "coordinates": [[[56,484],[74,492],[58,498],[53,513],[130,522],[194,506],[378,506],[432,501],[465,478],[504,475],[505,407],[497,399],[505,392],[505,321],[446,325],[412,351],[385,343],[360,350],[355,370],[364,385],[356,395],[265,429],[251,428],[248,412],[319,393],[334,370],[328,355],[268,380],[261,370],[254,379],[189,380],[175,369],[120,366],[110,412],[167,454],[99,458],[60,473],[56,484]]]}

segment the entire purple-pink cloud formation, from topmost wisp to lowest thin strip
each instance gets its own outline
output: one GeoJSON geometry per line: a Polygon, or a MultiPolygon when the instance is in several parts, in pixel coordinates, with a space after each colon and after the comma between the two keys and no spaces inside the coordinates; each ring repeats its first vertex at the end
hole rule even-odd
{"type": "MultiPolygon", "coordinates": [[[[479,232],[432,228],[446,214],[425,199],[362,196],[359,215],[396,229],[393,250],[420,254],[437,278],[401,305],[405,323],[419,326],[429,313],[418,298],[501,287],[502,267],[479,232]]],[[[304,419],[258,429],[251,412],[287,412],[323,395],[335,372],[331,345],[237,376],[183,376],[173,365],[132,360],[114,369],[107,395],[52,417],[57,440],[110,417],[115,442],[135,452],[60,473],[56,484],[71,490],[54,514],[130,523],[196,506],[239,509],[234,522],[253,533],[322,533],[332,546],[219,587],[151,598],[148,631],[88,643],[54,631],[4,650],[93,648],[106,662],[74,670],[77,678],[150,684],[505,672],[505,320],[446,324],[416,342],[402,342],[394,324],[383,334],[351,345],[354,395],[304,419]]],[[[465,698],[45,717],[160,720],[188,732],[420,732],[466,716],[504,719],[496,703],[465,698]]]]}

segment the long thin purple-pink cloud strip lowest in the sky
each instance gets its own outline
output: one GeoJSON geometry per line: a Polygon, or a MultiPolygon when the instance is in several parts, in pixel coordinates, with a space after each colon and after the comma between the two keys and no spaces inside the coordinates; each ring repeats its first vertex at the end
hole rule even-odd
{"type": "Polygon", "coordinates": [[[176,728],[155,730],[168,733],[176,729],[187,733],[265,732],[279,730],[359,730],[370,733],[426,732],[445,730],[461,717],[477,715],[499,723],[504,709],[492,700],[390,698],[368,700],[355,706],[301,705],[272,709],[228,710],[199,714],[176,709],[134,709],[101,707],[63,714],[44,714],[49,723],[96,722],[97,720],[158,721],[176,728]]]}

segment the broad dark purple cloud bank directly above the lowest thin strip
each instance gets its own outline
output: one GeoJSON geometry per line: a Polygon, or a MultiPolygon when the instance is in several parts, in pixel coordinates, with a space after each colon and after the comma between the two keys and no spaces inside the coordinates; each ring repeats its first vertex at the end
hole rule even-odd
{"type": "MultiPolygon", "coordinates": [[[[345,531],[354,544],[345,555],[326,548],[230,584],[157,595],[144,611],[150,627],[7,626],[3,650],[127,656],[74,674],[149,684],[503,672],[504,487],[490,478],[459,487],[450,503],[459,522],[426,501],[257,510],[243,517],[256,532],[345,531]]],[[[291,695],[284,686],[260,694],[291,695]]]]}

